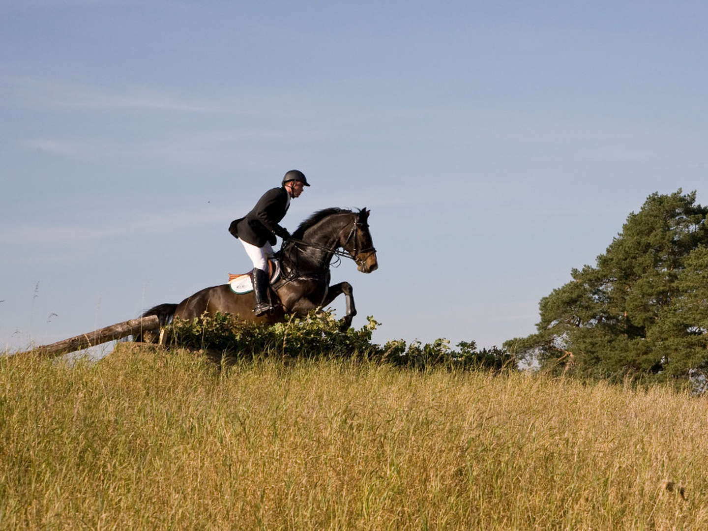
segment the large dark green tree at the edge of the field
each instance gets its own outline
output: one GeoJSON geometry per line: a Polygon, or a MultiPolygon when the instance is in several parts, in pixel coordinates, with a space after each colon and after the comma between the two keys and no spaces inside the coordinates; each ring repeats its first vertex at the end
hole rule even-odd
{"type": "Polygon", "coordinates": [[[685,379],[708,368],[708,207],[649,195],[595,267],[539,303],[537,333],[504,346],[579,377],[685,379]]]}

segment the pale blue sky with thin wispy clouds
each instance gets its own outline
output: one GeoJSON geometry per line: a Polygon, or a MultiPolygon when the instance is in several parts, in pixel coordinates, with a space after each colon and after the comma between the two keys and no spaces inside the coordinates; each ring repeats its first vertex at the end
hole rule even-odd
{"type": "Polygon", "coordinates": [[[647,195],[708,202],[704,2],[0,9],[0,348],[249,270],[229,222],[292,168],[285,227],[372,210],[333,282],[379,342],[524,336],[647,195]]]}

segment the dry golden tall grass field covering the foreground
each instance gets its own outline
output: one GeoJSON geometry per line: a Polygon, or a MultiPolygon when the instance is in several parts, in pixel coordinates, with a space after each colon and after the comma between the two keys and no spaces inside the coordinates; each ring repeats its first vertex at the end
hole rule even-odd
{"type": "Polygon", "coordinates": [[[0,360],[1,528],[708,529],[705,398],[122,349],[0,360]]]}

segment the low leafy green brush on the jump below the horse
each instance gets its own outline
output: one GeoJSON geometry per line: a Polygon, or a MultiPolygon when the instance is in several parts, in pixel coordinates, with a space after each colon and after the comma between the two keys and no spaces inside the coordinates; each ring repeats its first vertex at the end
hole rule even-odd
{"type": "Polygon", "coordinates": [[[478,349],[474,341],[462,341],[457,349],[447,339],[433,343],[404,340],[372,343],[379,323],[371,316],[360,329],[339,330],[331,312],[291,317],[270,326],[241,321],[228,314],[176,319],[166,328],[166,344],[203,350],[218,360],[259,358],[338,358],[359,356],[368,360],[424,369],[445,365],[464,369],[515,368],[515,358],[501,348],[478,349]]]}

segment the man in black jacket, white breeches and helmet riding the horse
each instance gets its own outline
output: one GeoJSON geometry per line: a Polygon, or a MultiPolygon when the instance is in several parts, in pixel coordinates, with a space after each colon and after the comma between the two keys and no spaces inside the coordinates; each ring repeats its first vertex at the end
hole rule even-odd
{"type": "Polygon", "coordinates": [[[271,188],[261,196],[256,206],[245,217],[234,219],[229,226],[229,232],[241,239],[246,254],[253,262],[251,278],[253,278],[253,293],[256,295],[256,307],[253,313],[262,315],[270,312],[273,306],[268,298],[268,257],[273,256],[275,236],[283,240],[290,238],[290,232],[280,227],[278,223],[285,217],[290,199],[297,198],[303,187],[309,186],[304,173],[290,170],[282,178],[280,188],[271,188]]]}

